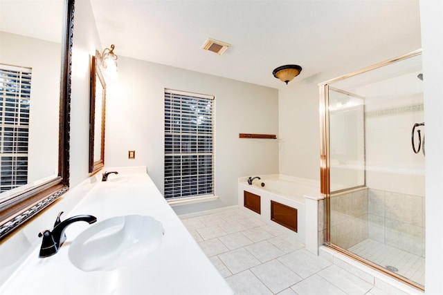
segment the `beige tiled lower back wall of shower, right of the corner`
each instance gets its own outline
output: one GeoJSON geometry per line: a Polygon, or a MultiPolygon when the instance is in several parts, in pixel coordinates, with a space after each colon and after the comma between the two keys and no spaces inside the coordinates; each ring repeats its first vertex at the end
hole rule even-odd
{"type": "Polygon", "coordinates": [[[368,190],[368,237],[425,256],[424,197],[368,190]]]}

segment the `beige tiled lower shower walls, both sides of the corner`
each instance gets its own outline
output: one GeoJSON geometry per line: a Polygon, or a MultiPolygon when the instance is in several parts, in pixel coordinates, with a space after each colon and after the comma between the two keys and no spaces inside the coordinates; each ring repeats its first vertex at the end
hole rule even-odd
{"type": "Polygon", "coordinates": [[[331,196],[331,242],[344,249],[366,239],[425,256],[424,197],[378,189],[331,196]]]}

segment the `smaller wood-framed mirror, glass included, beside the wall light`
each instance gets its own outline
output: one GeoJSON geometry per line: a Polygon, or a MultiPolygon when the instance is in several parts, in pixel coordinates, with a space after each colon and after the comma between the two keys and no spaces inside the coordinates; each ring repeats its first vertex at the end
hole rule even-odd
{"type": "Polygon", "coordinates": [[[89,104],[89,175],[105,166],[106,84],[97,57],[91,57],[89,104]]]}

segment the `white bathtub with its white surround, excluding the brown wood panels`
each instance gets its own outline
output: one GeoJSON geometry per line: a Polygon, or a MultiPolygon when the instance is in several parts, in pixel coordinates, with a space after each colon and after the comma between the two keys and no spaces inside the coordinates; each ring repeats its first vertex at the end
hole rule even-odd
{"type": "Polygon", "coordinates": [[[253,180],[252,185],[248,184],[247,178],[239,178],[239,209],[251,213],[269,225],[287,231],[298,241],[307,246],[310,245],[311,251],[316,253],[318,249],[318,200],[323,199],[320,197],[319,185],[311,180],[294,178],[294,181],[279,175],[259,176],[261,179],[253,180]],[[244,191],[260,196],[260,214],[244,207],[244,191]],[[297,232],[271,220],[271,200],[297,209],[297,232]]]}

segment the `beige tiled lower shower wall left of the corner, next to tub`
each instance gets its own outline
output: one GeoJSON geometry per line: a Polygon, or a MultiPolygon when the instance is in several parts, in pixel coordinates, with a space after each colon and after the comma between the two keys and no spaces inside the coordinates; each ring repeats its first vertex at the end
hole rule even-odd
{"type": "Polygon", "coordinates": [[[368,238],[368,189],[331,196],[331,242],[349,248],[368,238]]]}

